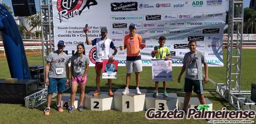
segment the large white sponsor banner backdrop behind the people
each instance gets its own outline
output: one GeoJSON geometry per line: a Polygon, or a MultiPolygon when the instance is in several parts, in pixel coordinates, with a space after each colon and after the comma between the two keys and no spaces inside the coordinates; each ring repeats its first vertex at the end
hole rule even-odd
{"type": "MultiPolygon", "coordinates": [[[[210,61],[209,66],[223,66],[222,54],[212,53],[222,51],[226,4],[227,1],[209,0],[52,0],[54,48],[57,49],[57,42],[63,40],[65,53],[72,56],[76,46],[82,43],[90,66],[94,66],[95,46],[86,44],[82,30],[88,24],[89,39],[93,40],[101,37],[100,30],[105,27],[107,37],[118,49],[114,59],[118,59],[119,66],[125,66],[126,50],[119,51],[119,46],[129,34],[130,24],[135,23],[136,33],[146,40],[145,48],[140,50],[143,66],[152,66],[151,51],[159,45],[160,36],[166,37],[165,46],[172,51],[172,66],[182,66],[190,40],[196,40],[198,50],[216,60],[210,61]]],[[[249,39],[256,38],[250,35],[249,39]]],[[[111,49],[110,55],[113,52],[111,49]]]]}

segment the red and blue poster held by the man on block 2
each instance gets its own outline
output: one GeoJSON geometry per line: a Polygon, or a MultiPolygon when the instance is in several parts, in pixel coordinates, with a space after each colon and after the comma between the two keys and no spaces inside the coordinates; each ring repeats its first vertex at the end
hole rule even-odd
{"type": "Polygon", "coordinates": [[[102,79],[117,79],[118,60],[103,60],[102,79]]]}

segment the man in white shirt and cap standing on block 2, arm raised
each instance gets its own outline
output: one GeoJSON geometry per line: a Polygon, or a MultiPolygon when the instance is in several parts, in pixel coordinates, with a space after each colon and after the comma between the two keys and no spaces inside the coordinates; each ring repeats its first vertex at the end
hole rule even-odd
{"type": "MultiPolygon", "coordinates": [[[[108,34],[108,30],[106,28],[102,28],[100,32],[101,32],[101,38],[95,38],[94,40],[90,41],[88,36],[88,31],[85,31],[87,45],[91,45],[91,44],[96,45],[95,71],[96,71],[97,90],[93,93],[93,96],[97,96],[98,94],[100,94],[99,83],[100,83],[100,75],[101,75],[101,69],[103,65],[103,59],[113,59],[117,53],[117,49],[113,41],[109,38],[106,38],[106,35],[108,34]],[[114,49],[114,53],[112,55],[109,55],[110,48],[114,49]]],[[[112,80],[108,79],[108,83],[109,83],[109,95],[113,96],[113,92],[111,90],[112,80]]]]}

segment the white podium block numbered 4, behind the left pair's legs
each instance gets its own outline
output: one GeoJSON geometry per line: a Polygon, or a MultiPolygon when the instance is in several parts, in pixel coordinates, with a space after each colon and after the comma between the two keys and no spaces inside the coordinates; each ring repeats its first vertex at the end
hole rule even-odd
{"type": "MultiPolygon", "coordinates": [[[[74,106],[75,106],[76,109],[78,107],[78,101],[79,101],[79,97],[76,96],[75,101],[74,101],[74,106]]],[[[57,106],[57,101],[56,101],[56,106],[57,106]]],[[[70,95],[63,95],[62,94],[60,106],[61,106],[61,108],[66,108],[66,109],[68,109],[71,106],[70,95]]]]}

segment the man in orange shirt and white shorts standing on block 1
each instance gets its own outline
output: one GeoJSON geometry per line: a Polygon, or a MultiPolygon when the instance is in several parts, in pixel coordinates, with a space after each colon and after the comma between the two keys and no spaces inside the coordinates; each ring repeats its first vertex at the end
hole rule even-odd
{"type": "MultiPolygon", "coordinates": [[[[133,71],[136,75],[136,93],[141,94],[139,90],[140,82],[140,71],[142,71],[142,62],[140,56],[140,49],[143,49],[145,46],[141,46],[142,37],[138,34],[135,34],[136,25],[131,23],[129,26],[129,35],[124,36],[124,49],[126,50],[126,87],[122,94],[129,93],[129,84],[130,78],[133,71]]],[[[120,48],[120,50],[122,50],[120,48]]]]}

